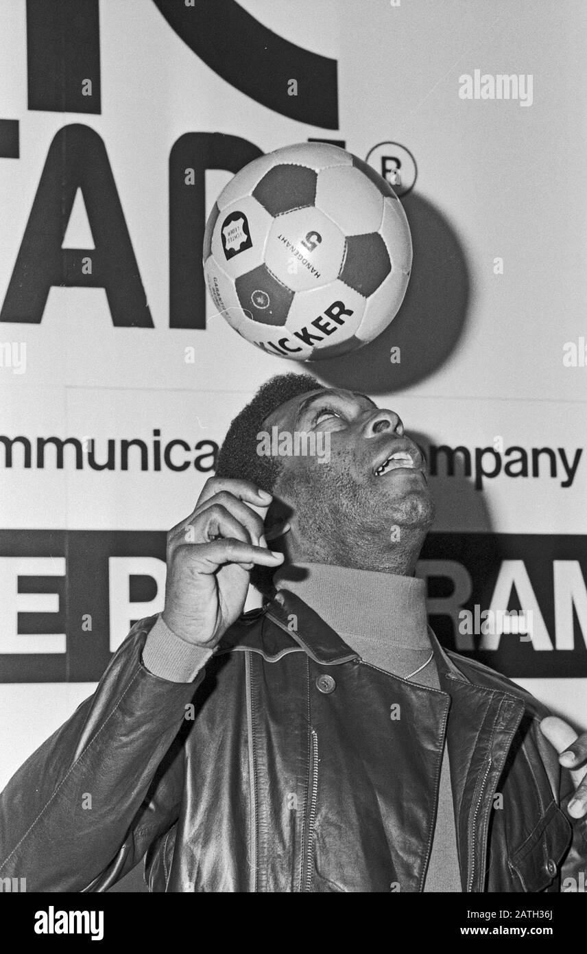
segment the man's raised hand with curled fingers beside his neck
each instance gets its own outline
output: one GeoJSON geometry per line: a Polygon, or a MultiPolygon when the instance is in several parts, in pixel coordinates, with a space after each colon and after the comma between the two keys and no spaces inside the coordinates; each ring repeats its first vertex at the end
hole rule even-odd
{"type": "Polygon", "coordinates": [[[177,636],[212,649],[243,610],[253,565],[276,570],[283,562],[263,536],[272,499],[249,481],[211,477],[190,516],[170,530],[162,618],[177,636]]]}

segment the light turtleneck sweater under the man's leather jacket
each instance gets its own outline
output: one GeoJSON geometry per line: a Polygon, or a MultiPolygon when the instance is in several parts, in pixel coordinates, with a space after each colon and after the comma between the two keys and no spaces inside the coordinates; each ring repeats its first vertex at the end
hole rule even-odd
{"type": "MultiPolygon", "coordinates": [[[[364,662],[439,689],[423,580],[313,563],[277,570],[273,582],[307,603],[364,662]]],[[[424,891],[462,891],[446,740],[424,891]]]]}

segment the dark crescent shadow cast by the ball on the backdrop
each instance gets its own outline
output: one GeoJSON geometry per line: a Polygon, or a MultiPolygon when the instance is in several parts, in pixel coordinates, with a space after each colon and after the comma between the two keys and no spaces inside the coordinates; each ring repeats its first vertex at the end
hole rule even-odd
{"type": "Polygon", "coordinates": [[[414,244],[406,297],[392,323],[358,351],[308,364],[327,384],[383,394],[427,378],[455,349],[466,318],[470,281],[464,250],[447,218],[427,199],[402,199],[414,244]],[[392,364],[392,347],[401,363],[392,364]]]}

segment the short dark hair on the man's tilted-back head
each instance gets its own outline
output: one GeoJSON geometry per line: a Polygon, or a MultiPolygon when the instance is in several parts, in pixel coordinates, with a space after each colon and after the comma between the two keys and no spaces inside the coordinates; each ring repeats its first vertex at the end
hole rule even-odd
{"type": "Polygon", "coordinates": [[[282,461],[257,454],[257,434],[263,429],[265,418],[280,404],[322,386],[312,375],[294,372],[275,375],[262,384],[253,401],[236,415],[227,431],[216,458],[216,477],[249,480],[256,487],[273,493],[282,461]]]}

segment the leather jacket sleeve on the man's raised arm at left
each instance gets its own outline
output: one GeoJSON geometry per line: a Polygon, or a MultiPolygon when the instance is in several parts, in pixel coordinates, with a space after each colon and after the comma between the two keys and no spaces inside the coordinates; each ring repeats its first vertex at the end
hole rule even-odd
{"type": "Polygon", "coordinates": [[[178,816],[182,724],[204,678],[150,672],[155,617],[135,624],[96,691],[0,795],[0,878],[28,891],[104,891],[178,816]]]}

